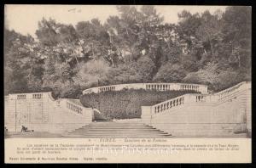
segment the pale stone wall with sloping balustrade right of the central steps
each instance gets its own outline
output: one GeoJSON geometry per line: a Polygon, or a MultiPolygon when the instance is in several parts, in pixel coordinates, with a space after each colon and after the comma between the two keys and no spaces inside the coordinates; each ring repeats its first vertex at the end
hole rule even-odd
{"type": "Polygon", "coordinates": [[[251,83],[242,82],[212,95],[186,94],[154,106],[142,107],[142,120],[177,136],[251,132],[251,83]]]}

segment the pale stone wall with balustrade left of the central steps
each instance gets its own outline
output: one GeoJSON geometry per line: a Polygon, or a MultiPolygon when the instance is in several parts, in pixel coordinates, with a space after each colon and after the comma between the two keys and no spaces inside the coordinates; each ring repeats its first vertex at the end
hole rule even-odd
{"type": "Polygon", "coordinates": [[[5,98],[4,126],[20,132],[26,126],[34,132],[68,132],[89,124],[92,109],[67,98],[55,100],[50,92],[9,94],[5,98]]]}

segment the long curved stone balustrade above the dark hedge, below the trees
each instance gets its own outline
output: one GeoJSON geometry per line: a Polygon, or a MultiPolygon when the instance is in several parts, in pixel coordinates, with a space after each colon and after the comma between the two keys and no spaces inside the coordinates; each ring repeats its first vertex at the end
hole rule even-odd
{"type": "Polygon", "coordinates": [[[188,83],[131,83],[131,84],[119,84],[102,87],[91,87],[85,89],[83,94],[99,93],[107,91],[120,91],[122,89],[145,89],[145,90],[157,90],[157,91],[186,91],[192,90],[195,92],[207,93],[206,85],[188,84],[188,83]]]}

